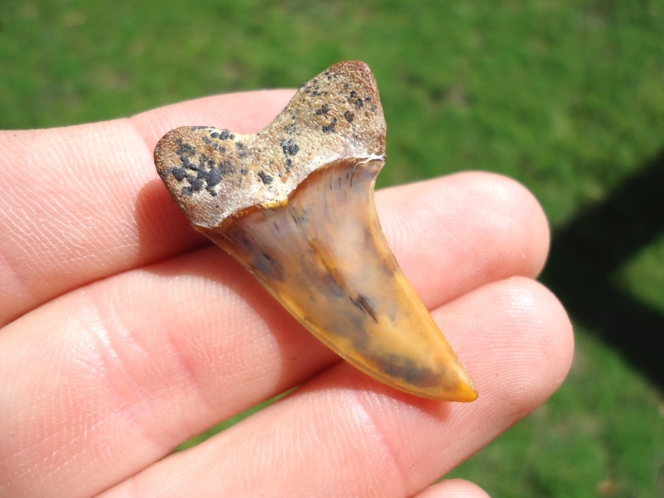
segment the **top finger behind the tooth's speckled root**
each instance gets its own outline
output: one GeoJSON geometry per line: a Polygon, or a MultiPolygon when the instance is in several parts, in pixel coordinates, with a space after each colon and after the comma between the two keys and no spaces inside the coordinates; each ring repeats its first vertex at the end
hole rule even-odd
{"type": "Polygon", "coordinates": [[[201,244],[158,180],[157,140],[175,125],[256,131],[292,93],[221,95],[133,119],[0,132],[0,172],[11,179],[0,184],[0,326],[77,286],[201,244]]]}

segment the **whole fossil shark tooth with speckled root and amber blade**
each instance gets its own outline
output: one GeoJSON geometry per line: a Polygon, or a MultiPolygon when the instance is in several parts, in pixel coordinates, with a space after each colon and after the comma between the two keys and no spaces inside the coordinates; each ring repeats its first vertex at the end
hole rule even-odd
{"type": "Polygon", "coordinates": [[[363,62],[300,87],[263,130],[168,132],[155,165],[194,228],[346,361],[401,391],[477,391],[390,251],[373,202],[385,119],[363,62]]]}

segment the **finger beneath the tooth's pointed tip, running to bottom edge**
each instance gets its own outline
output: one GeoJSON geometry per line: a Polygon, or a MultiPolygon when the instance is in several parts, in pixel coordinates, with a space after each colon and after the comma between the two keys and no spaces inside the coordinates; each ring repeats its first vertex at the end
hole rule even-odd
{"type": "Polygon", "coordinates": [[[572,360],[565,312],[532,280],[489,284],[434,317],[468,359],[477,401],[437,403],[395,394],[342,362],[104,496],[278,490],[292,497],[407,497],[422,490],[539,406],[572,360]]]}

